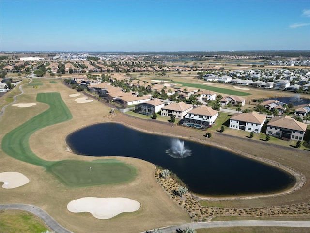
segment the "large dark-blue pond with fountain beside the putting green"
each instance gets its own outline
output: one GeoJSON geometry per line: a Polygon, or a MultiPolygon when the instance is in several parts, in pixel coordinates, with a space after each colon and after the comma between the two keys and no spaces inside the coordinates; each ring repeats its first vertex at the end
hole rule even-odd
{"type": "Polygon", "coordinates": [[[71,150],[87,156],[126,156],[175,173],[188,189],[205,196],[270,194],[293,187],[291,174],[227,150],[193,141],[101,123],[71,133],[71,150]]]}

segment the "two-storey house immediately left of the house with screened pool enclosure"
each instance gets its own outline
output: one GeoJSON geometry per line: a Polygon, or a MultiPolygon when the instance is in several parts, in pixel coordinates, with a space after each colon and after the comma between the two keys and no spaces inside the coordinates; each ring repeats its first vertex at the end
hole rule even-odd
{"type": "Polygon", "coordinates": [[[187,112],[192,110],[194,106],[184,102],[171,103],[161,108],[161,116],[174,115],[177,119],[183,119],[187,112]]]}

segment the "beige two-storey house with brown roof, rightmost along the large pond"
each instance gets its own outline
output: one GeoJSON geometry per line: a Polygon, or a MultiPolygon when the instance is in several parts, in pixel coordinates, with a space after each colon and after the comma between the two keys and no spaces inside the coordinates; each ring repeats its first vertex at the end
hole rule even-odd
{"type": "Polygon", "coordinates": [[[307,124],[299,122],[289,116],[275,116],[267,124],[266,134],[284,140],[304,139],[307,124]]]}

